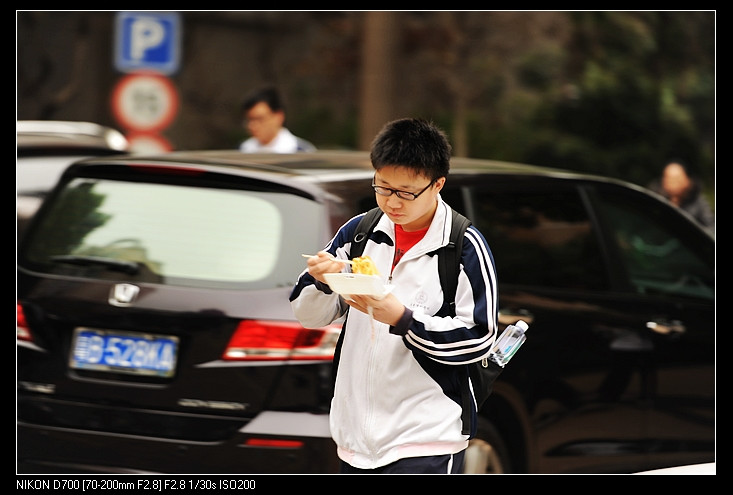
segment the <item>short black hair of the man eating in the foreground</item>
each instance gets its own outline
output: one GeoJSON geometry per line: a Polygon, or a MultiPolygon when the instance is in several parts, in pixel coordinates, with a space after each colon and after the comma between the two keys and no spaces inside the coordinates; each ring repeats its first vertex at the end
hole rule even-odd
{"type": "Polygon", "coordinates": [[[432,180],[450,170],[451,145],[445,133],[424,119],[388,122],[372,142],[372,166],[400,165],[432,180]]]}

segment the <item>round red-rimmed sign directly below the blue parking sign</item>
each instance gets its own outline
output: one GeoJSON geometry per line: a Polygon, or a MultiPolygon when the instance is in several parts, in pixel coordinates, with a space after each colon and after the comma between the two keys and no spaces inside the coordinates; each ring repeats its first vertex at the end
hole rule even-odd
{"type": "Polygon", "coordinates": [[[173,83],[153,73],[129,74],[112,93],[112,111],[126,129],[157,132],[168,127],[178,111],[173,83]]]}

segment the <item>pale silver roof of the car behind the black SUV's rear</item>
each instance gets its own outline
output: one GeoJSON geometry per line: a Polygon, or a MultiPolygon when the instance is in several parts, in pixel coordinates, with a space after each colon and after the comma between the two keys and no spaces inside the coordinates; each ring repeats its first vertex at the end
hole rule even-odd
{"type": "Polygon", "coordinates": [[[78,150],[80,152],[87,150],[127,152],[129,150],[127,138],[121,132],[92,122],[19,120],[16,122],[16,138],[19,152],[47,149],[78,150]]]}

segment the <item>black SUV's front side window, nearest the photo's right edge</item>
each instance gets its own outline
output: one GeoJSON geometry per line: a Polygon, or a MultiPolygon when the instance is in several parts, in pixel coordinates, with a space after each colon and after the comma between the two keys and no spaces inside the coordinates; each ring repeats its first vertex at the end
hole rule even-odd
{"type": "Polygon", "coordinates": [[[599,191],[628,282],[640,294],[715,298],[712,257],[689,222],[663,205],[621,191],[599,191]]]}

